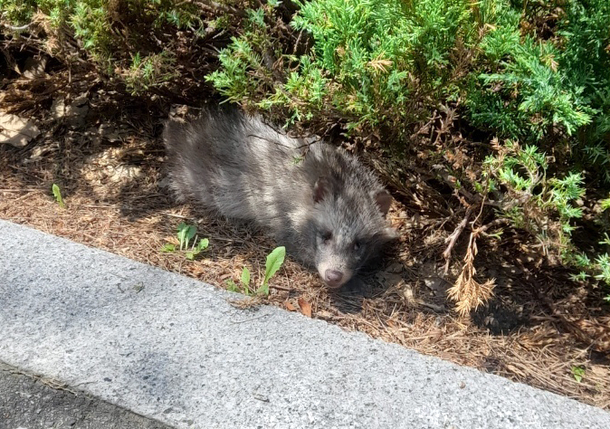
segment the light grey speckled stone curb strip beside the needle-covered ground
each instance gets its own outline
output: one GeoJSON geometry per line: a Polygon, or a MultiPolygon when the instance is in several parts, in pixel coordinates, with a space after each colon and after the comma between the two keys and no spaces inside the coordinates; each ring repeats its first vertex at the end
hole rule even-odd
{"type": "Polygon", "coordinates": [[[610,414],[0,221],[0,361],[176,428],[604,428],[610,414]]]}

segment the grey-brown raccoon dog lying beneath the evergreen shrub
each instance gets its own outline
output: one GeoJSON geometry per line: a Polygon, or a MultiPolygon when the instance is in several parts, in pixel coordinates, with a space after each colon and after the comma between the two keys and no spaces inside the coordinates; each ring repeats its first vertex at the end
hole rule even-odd
{"type": "Polygon", "coordinates": [[[315,138],[291,138],[239,110],[167,123],[171,187],[179,200],[271,232],[338,288],[396,238],[392,202],[371,171],[315,138]]]}

